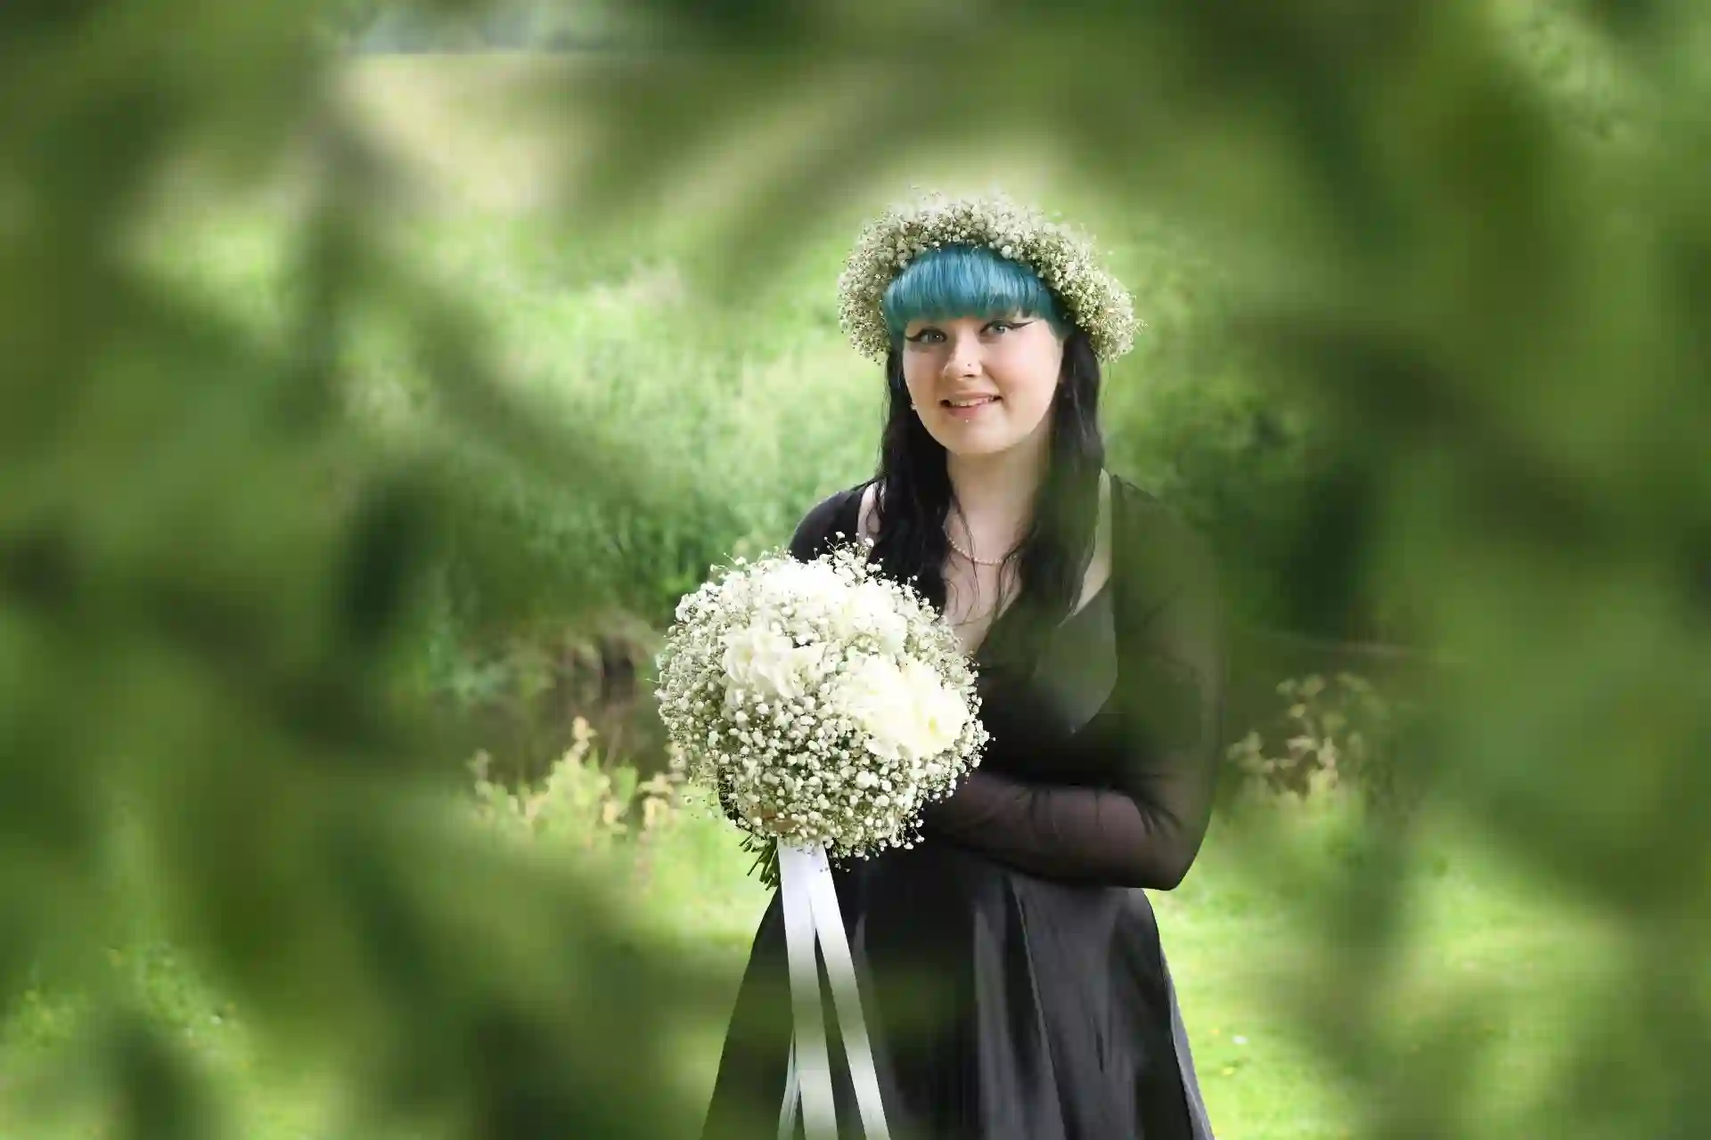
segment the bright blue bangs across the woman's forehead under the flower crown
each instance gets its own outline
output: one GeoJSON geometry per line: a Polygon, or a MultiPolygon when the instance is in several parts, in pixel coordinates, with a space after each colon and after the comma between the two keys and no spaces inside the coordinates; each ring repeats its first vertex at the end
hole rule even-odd
{"type": "Polygon", "coordinates": [[[1051,289],[1020,261],[987,246],[941,246],[903,267],[879,301],[891,344],[910,321],[948,321],[958,316],[1044,316],[1057,335],[1068,335],[1051,289]]]}

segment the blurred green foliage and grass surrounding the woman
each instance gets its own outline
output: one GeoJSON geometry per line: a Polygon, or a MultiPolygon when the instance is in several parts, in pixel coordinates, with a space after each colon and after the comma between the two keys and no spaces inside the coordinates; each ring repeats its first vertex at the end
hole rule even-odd
{"type": "Polygon", "coordinates": [[[1692,0],[12,0],[0,1135],[696,1135],[767,899],[652,655],[871,473],[917,185],[1148,321],[1218,1135],[1702,1135],[1708,157],[1692,0]]]}

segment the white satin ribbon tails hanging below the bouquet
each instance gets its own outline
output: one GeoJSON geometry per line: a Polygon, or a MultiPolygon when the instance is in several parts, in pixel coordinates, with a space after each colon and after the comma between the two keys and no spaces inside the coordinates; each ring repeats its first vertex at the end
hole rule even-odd
{"type": "Polygon", "coordinates": [[[790,959],[790,1005],[796,1032],[785,1073],[784,1104],[779,1108],[779,1140],[796,1133],[797,1102],[802,1108],[802,1131],[808,1140],[837,1140],[838,1118],[832,1099],[832,1060],[826,1025],[820,1005],[820,962],[814,943],[826,955],[832,1002],[844,1032],[844,1055],[856,1089],[867,1140],[890,1140],[885,1106],[879,1099],[879,1075],[873,1063],[873,1043],[861,1012],[856,962],[844,935],[844,914],[832,885],[832,865],[825,848],[799,848],[779,843],[779,890],[784,902],[784,940],[790,959]]]}

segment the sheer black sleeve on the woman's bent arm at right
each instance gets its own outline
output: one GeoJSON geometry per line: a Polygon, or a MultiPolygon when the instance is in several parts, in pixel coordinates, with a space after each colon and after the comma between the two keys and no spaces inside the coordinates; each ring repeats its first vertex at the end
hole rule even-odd
{"type": "Polygon", "coordinates": [[[1114,567],[1121,732],[1110,786],[975,769],[927,808],[929,839],[1073,882],[1169,890],[1187,873],[1220,771],[1223,607],[1193,532],[1152,499],[1126,509],[1114,567]]]}

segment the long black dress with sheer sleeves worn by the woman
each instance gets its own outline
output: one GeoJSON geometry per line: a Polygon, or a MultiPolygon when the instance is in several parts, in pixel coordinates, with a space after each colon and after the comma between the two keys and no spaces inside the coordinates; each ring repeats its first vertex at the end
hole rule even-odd
{"type": "MultiPolygon", "coordinates": [[[[854,535],[864,487],[809,511],[790,552],[854,535]]],[[[1121,479],[1112,540],[1107,585],[1039,660],[975,655],[991,742],[924,843],[833,872],[895,1140],[1211,1137],[1141,889],[1181,882],[1211,814],[1222,607],[1196,537],[1121,479]]],[[[777,1135],[785,962],[775,896],[703,1140],[777,1135]]],[[[832,1037],[840,1135],[859,1137],[832,1037]]]]}

